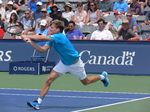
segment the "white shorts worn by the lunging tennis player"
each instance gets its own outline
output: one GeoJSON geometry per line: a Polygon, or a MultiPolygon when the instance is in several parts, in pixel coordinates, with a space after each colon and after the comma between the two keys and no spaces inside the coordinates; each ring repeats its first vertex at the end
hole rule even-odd
{"type": "Polygon", "coordinates": [[[64,65],[60,60],[53,70],[58,72],[60,75],[64,75],[65,73],[69,72],[79,80],[83,80],[87,77],[84,63],[80,58],[77,63],[69,66],[64,65]]]}

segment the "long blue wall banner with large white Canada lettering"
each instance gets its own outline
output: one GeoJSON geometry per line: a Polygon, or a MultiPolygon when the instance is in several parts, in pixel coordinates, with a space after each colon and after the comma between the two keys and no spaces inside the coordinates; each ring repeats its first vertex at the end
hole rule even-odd
{"type": "MultiPolygon", "coordinates": [[[[149,49],[146,41],[71,40],[85,63],[87,73],[150,75],[149,49]]],[[[0,40],[0,71],[9,71],[9,63],[30,61],[33,47],[22,40],[0,40]]],[[[45,55],[45,54],[42,54],[45,55]]],[[[58,53],[52,48],[48,60],[57,63],[58,53]]]]}

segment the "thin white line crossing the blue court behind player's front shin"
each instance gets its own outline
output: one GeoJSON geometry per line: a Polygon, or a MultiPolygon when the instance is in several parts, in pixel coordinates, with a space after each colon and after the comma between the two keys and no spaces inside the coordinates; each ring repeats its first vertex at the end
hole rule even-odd
{"type": "MultiPolygon", "coordinates": [[[[0,93],[0,95],[9,96],[39,96],[36,94],[11,94],[11,93],[0,93]]],[[[87,96],[62,96],[62,95],[46,95],[47,97],[60,97],[60,98],[86,98],[86,99],[121,99],[121,100],[131,100],[133,98],[114,98],[114,97],[87,97],[87,96]]]]}

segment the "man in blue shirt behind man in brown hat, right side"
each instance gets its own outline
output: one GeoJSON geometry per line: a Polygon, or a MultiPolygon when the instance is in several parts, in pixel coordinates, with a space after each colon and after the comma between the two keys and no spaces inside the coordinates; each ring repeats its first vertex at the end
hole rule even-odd
{"type": "Polygon", "coordinates": [[[132,18],[132,12],[128,12],[126,16],[129,21],[129,29],[131,29],[134,33],[137,33],[137,22],[132,18]]]}

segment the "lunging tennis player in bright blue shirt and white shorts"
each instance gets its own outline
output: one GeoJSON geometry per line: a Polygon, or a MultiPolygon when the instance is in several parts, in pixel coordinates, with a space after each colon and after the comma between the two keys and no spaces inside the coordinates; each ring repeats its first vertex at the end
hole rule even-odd
{"type": "Polygon", "coordinates": [[[53,47],[56,50],[56,52],[58,52],[61,56],[60,61],[57,63],[57,65],[51,71],[50,75],[47,77],[42,87],[40,96],[37,98],[36,101],[27,102],[28,106],[36,110],[40,109],[40,104],[42,103],[42,100],[49,91],[51,83],[66,72],[70,72],[72,75],[78,78],[84,85],[88,85],[98,80],[101,80],[105,87],[109,85],[107,72],[102,72],[102,74],[98,76],[95,75],[87,77],[84,69],[84,63],[80,59],[78,52],[74,49],[71,42],[62,33],[63,29],[64,23],[59,20],[55,20],[52,22],[50,27],[50,30],[52,32],[52,35],[50,36],[21,35],[23,40],[27,43],[30,43],[37,51],[43,53],[46,50],[53,47]],[[34,43],[32,40],[46,40],[47,42],[43,47],[41,47],[34,43]]]}

